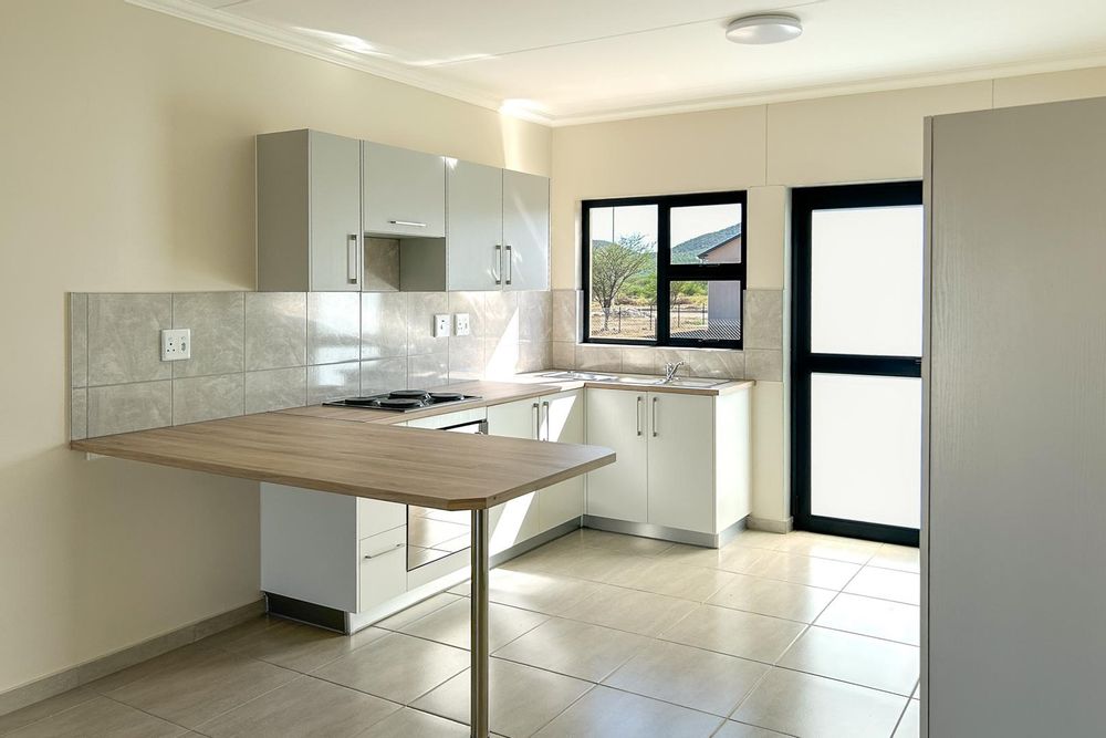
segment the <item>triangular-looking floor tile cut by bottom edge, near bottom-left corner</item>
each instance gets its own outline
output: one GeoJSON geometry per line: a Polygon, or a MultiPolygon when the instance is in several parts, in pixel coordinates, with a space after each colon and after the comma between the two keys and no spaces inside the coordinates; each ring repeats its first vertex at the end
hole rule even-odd
{"type": "Polygon", "coordinates": [[[96,696],[4,735],[11,738],[168,738],[186,732],[179,725],[96,696]]]}

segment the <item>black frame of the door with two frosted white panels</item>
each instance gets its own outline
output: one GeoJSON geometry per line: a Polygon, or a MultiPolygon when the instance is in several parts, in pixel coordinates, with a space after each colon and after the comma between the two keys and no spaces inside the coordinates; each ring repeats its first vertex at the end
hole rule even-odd
{"type": "Polygon", "coordinates": [[[792,191],[791,509],[797,530],[918,545],[919,531],[912,528],[811,512],[811,374],[921,376],[921,360],[915,356],[811,353],[811,217],[814,210],[902,205],[921,205],[920,181],[804,187],[792,191]]]}

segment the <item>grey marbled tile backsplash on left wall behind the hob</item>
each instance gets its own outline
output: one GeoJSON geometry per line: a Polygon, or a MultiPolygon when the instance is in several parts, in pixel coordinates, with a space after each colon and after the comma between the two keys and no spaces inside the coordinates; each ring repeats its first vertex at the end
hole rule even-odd
{"type": "Polygon", "coordinates": [[[549,365],[550,292],[72,293],[73,438],[549,365]],[[436,313],[471,335],[435,339],[436,313]],[[191,330],[163,362],[159,332],[191,330]]]}

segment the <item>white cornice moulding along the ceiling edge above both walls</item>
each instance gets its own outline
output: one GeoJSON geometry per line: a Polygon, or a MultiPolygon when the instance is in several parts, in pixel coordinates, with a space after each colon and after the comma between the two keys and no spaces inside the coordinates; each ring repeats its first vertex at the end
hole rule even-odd
{"type": "Polygon", "coordinates": [[[208,28],[246,37],[248,39],[279,46],[288,51],[294,51],[322,61],[375,74],[377,76],[392,80],[393,82],[408,84],[428,92],[452,97],[461,102],[499,112],[502,115],[551,127],[586,125],[589,123],[607,123],[612,121],[654,117],[658,115],[676,115],[680,113],[695,113],[701,111],[722,110],[727,107],[747,107],[752,105],[787,103],[817,97],[855,95],[867,92],[890,92],[894,90],[905,90],[910,87],[932,87],[943,84],[981,82],[992,79],[1106,66],[1106,51],[1103,51],[1102,53],[1094,55],[1046,58],[1027,62],[973,66],[946,72],[887,76],[875,80],[864,80],[860,82],[797,85],[794,87],[768,92],[711,95],[700,97],[698,100],[650,101],[650,98],[645,97],[637,103],[627,101],[618,108],[609,111],[553,116],[526,110],[504,111],[501,110],[502,101],[484,91],[460,83],[441,80],[437,75],[420,72],[406,64],[344,51],[323,42],[313,41],[296,33],[282,31],[280,29],[265,25],[264,23],[220,12],[217,9],[190,2],[189,0],[125,1],[133,6],[163,12],[176,18],[206,25],[208,28]]]}

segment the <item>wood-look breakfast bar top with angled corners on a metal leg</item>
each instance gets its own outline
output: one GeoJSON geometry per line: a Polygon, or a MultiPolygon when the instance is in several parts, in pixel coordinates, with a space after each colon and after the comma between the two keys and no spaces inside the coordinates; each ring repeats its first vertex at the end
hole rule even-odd
{"type": "Polygon", "coordinates": [[[102,436],[71,446],[134,461],[442,510],[490,508],[615,460],[614,451],[598,446],[295,413],[102,436]]]}

